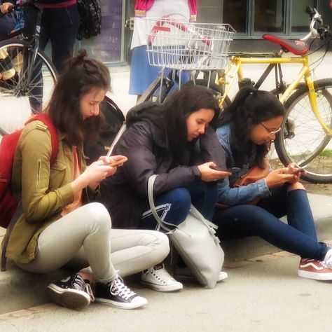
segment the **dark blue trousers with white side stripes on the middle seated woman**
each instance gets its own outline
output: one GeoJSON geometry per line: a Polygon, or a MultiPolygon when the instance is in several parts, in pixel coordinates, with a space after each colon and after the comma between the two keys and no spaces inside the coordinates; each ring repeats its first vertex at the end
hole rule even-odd
{"type": "MultiPolygon", "coordinates": [[[[217,200],[215,182],[197,181],[187,187],[180,187],[155,196],[155,209],[165,225],[172,228],[179,225],[191,209],[193,204],[206,219],[211,220],[217,200]]],[[[150,205],[146,202],[144,213],[141,215],[139,228],[158,229],[158,223],[151,213],[150,205]]]]}

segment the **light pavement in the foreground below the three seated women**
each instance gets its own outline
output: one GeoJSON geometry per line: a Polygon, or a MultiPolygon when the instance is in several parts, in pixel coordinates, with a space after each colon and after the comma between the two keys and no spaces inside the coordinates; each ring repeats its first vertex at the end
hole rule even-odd
{"type": "MultiPolygon", "coordinates": [[[[284,254],[284,253],[283,253],[284,254]]],[[[215,289],[185,284],[176,293],[134,290],[137,310],[94,303],[80,312],[53,303],[0,316],[6,332],[293,332],[331,331],[331,282],[296,275],[297,256],[267,257],[227,268],[215,289]]],[[[8,300],[1,298],[3,300],[8,300]]]]}

